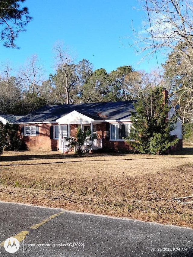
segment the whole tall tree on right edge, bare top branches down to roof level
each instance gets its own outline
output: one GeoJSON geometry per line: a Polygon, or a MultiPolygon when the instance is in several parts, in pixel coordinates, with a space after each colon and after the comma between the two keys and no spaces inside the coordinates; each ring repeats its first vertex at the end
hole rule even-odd
{"type": "Polygon", "coordinates": [[[193,120],[191,111],[193,105],[192,2],[188,0],[148,0],[143,3],[142,8],[146,10],[149,17],[147,16],[144,28],[135,33],[138,39],[133,46],[138,46],[138,51],[146,50],[146,56],[153,54],[155,50],[169,53],[168,61],[163,65],[165,69],[164,83],[170,91],[169,97],[173,103],[179,104],[178,113],[183,122],[191,121],[193,120]]]}

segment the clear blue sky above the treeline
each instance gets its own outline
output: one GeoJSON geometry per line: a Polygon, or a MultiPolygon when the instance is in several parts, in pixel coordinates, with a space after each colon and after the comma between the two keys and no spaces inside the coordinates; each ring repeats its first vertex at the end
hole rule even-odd
{"type": "MultiPolygon", "coordinates": [[[[1,63],[8,61],[18,69],[27,58],[37,54],[48,78],[55,70],[53,46],[62,41],[70,49],[74,63],[87,59],[94,70],[104,68],[110,72],[123,65],[146,72],[157,69],[155,56],[139,63],[144,54],[138,55],[128,47],[134,38],[131,24],[140,30],[147,18],[146,13],[138,11],[138,0],[26,0],[25,5],[33,21],[16,40],[19,50],[5,48],[0,42],[1,63]]],[[[158,54],[159,63],[164,60],[158,54]]]]}

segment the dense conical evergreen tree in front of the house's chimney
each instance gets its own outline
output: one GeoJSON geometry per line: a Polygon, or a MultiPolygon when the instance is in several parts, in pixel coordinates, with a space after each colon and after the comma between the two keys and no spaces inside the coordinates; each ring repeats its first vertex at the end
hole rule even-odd
{"type": "Polygon", "coordinates": [[[178,142],[170,135],[172,119],[168,119],[168,99],[160,87],[150,88],[135,104],[131,113],[132,127],[127,142],[140,153],[164,153],[178,142]]]}

